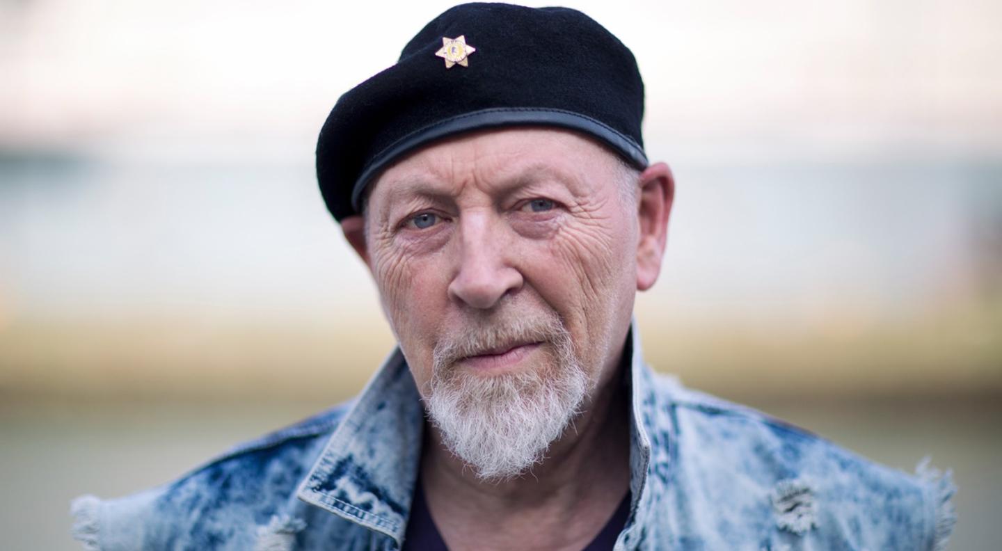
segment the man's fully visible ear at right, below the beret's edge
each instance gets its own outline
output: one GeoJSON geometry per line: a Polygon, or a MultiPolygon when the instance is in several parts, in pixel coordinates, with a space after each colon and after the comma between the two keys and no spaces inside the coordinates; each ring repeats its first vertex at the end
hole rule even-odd
{"type": "Polygon", "coordinates": [[[668,215],[675,196],[675,180],[663,162],[640,173],[637,196],[639,235],[636,247],[636,289],[647,291],[661,272],[661,259],[668,242],[668,215]]]}

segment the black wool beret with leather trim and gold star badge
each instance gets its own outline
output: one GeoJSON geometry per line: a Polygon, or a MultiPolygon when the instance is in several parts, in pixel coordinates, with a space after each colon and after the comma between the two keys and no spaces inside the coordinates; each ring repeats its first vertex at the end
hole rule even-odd
{"type": "Polygon", "coordinates": [[[643,168],[642,117],[633,54],[587,15],[463,4],[421,29],[396,65],[341,96],[317,141],[317,178],[340,221],[360,212],[366,186],[402,155],[513,125],[585,132],[643,168]]]}

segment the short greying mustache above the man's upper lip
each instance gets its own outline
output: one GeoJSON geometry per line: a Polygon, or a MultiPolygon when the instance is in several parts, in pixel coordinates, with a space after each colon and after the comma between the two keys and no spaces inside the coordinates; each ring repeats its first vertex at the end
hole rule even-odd
{"type": "Polygon", "coordinates": [[[504,319],[474,319],[436,343],[432,352],[434,372],[471,356],[496,353],[519,345],[570,342],[563,321],[555,312],[513,314],[504,319]]]}

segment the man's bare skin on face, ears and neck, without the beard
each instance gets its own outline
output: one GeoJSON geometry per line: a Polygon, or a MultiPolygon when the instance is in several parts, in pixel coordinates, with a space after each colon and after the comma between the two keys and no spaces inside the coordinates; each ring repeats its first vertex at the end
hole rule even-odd
{"type": "MultiPolygon", "coordinates": [[[[660,271],[673,191],[663,163],[627,172],[582,134],[511,128],[408,155],[374,182],[365,216],[342,222],[423,396],[443,335],[539,309],[563,321],[591,381],[546,460],[503,483],[474,477],[428,425],[422,479],[450,549],[581,549],[628,492],[619,366],[636,291],[660,271]]],[[[552,369],[547,346],[455,369],[552,369]]]]}

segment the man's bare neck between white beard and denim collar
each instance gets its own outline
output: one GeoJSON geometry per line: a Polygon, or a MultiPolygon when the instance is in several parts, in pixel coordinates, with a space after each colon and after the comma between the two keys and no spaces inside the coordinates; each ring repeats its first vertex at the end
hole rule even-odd
{"type": "Polygon", "coordinates": [[[628,366],[621,364],[546,459],[513,480],[481,481],[427,424],[421,479],[450,549],[581,549],[594,538],[629,490],[628,392],[621,384],[628,366]]]}

